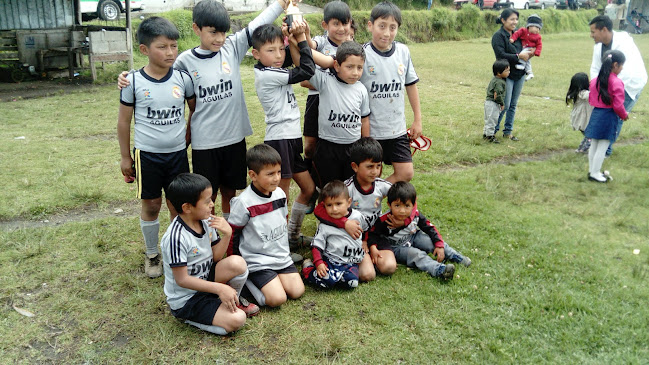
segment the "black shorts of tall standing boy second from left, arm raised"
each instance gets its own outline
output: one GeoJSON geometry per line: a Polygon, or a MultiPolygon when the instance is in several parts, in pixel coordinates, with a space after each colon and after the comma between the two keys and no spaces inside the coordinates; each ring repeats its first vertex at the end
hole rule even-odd
{"type": "Polygon", "coordinates": [[[214,193],[221,186],[240,190],[246,187],[246,140],[209,150],[192,150],[194,173],[205,176],[214,193]]]}

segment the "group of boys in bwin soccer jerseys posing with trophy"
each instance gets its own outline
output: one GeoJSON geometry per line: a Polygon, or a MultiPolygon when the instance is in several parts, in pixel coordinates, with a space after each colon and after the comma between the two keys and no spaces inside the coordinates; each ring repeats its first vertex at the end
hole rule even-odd
{"type": "Polygon", "coordinates": [[[287,5],[278,0],[226,37],[230,21],[223,5],[201,1],[192,24],[200,46],[179,56],[175,26],[161,17],[146,19],[137,36],[149,63],[118,81],[120,166],[142,199],[145,272],[157,277],[164,267],[174,316],[214,333],[234,331],[259,311],[242,290],[257,304],[276,307],[303,294],[303,279],[353,288],[372,280],[376,270],[393,273],[397,263],[452,279],[455,268],[446,261],[471,263],[418,211],[416,192],[407,182],[413,175],[410,138],[421,136],[422,127],[418,78],[408,48],[394,42],[399,8],[377,4],[368,22],[372,41],[361,46],[348,40],[353,21],[344,2],[325,6],[327,37],[314,39],[302,21],[281,29],[270,24],[287,5]],[[255,88],[266,134],[264,144],[247,149],[252,128],[239,67],[250,46],[259,61],[255,88]],[[286,68],[291,63],[295,67],[286,68]],[[318,92],[307,101],[306,148],[295,83],[318,92]],[[404,91],[414,112],[408,130],[404,91]],[[307,123],[317,131],[315,144],[307,123]],[[193,174],[186,152],[190,144],[193,174]],[[394,167],[385,180],[379,177],[384,162],[394,167]],[[287,219],[290,179],[300,193],[287,219]],[[300,275],[289,242],[308,242],[300,230],[316,186],[321,223],[312,241],[313,260],[305,260],[300,275]],[[160,254],[162,190],[172,221],[160,254]],[[213,212],[217,191],[223,217],[213,212]],[[381,215],[386,196],[390,211],[381,215]]]}

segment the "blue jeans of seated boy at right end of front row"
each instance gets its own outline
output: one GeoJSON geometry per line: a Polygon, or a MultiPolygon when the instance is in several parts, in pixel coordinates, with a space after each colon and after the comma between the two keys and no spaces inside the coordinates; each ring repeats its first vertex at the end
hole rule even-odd
{"type": "MultiPolygon", "coordinates": [[[[446,265],[437,262],[437,260],[428,255],[433,252],[435,245],[430,237],[422,231],[417,231],[412,235],[410,242],[390,248],[394,252],[394,257],[398,263],[426,271],[430,276],[441,276],[446,269],[446,265]]],[[[446,242],[444,242],[444,256],[444,261],[462,262],[464,259],[462,254],[455,251],[446,242]]]]}

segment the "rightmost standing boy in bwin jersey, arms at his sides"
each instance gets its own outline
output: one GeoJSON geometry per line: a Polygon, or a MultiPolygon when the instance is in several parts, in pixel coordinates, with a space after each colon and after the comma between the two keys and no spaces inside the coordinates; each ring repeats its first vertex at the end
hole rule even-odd
{"type": "Polygon", "coordinates": [[[396,5],[383,1],[374,6],[367,23],[372,41],[363,46],[366,59],[361,77],[372,110],[370,136],[383,146],[383,162],[394,168],[394,173],[386,178],[393,184],[412,179],[410,139],[422,134],[419,78],[408,47],[394,41],[400,25],[401,11],[396,5]],[[414,114],[410,135],[406,128],[404,91],[414,114]]]}

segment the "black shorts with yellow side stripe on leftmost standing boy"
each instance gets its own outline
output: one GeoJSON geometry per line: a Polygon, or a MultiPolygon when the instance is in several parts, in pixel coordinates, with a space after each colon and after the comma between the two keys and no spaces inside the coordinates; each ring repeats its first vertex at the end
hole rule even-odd
{"type": "Polygon", "coordinates": [[[154,153],[133,149],[138,199],[157,199],[178,174],[189,172],[187,150],[154,153]]]}

